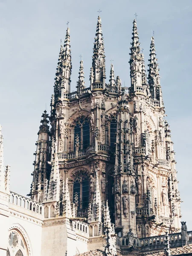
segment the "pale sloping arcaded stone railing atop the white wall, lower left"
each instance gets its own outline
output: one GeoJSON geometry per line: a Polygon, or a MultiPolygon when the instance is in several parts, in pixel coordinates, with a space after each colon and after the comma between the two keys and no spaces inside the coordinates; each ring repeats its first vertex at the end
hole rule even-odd
{"type": "Polygon", "coordinates": [[[33,201],[33,200],[26,198],[22,195],[18,195],[14,192],[10,192],[9,202],[11,204],[15,204],[17,206],[28,209],[32,212],[36,212],[41,215],[44,215],[44,205],[43,204],[33,201]]]}

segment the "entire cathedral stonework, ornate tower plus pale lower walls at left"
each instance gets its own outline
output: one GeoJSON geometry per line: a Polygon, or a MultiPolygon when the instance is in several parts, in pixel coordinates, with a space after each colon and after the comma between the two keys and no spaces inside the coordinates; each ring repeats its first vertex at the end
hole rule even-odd
{"type": "Polygon", "coordinates": [[[73,256],[93,249],[101,253],[104,244],[107,255],[129,255],[134,248],[139,255],[164,249],[167,232],[174,234],[169,236],[175,247],[190,243],[183,224],[178,233],[181,200],[154,38],[147,81],[136,20],[130,49],[131,86],[122,87],[113,64],[106,83],[98,17],[90,87],[84,86],[81,60],[77,90],[70,93],[67,28],[51,113],[44,111],[38,132],[31,199],[9,190],[1,135],[0,220],[6,236],[0,255],[73,256]]]}

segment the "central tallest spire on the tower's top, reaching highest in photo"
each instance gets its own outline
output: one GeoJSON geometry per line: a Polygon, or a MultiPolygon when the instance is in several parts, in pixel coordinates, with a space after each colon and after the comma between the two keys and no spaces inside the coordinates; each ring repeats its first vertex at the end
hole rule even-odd
{"type": "MultiPolygon", "coordinates": [[[[98,16],[96,38],[93,47],[93,62],[90,73],[91,86],[92,83],[102,83],[99,89],[105,89],[105,49],[102,37],[101,18],[98,16]]],[[[91,87],[91,89],[94,89],[91,87]]],[[[97,88],[98,89],[98,88],[97,88]]]]}

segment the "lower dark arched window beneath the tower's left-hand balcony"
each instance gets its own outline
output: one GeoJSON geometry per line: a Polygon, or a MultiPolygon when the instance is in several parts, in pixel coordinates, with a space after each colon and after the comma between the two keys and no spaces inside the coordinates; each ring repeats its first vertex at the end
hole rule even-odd
{"type": "Polygon", "coordinates": [[[73,201],[78,196],[78,209],[85,209],[89,204],[89,178],[87,175],[78,175],[73,183],[73,201]]]}

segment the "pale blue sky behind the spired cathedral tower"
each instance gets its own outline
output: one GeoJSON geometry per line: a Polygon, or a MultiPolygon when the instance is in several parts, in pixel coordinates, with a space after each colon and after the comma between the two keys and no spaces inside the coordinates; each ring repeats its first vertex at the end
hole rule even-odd
{"type": "MultiPolygon", "coordinates": [[[[113,58],[115,75],[130,86],[132,22],[137,26],[145,67],[154,31],[167,121],[176,152],[182,220],[192,230],[192,1],[191,0],[0,0],[0,123],[11,190],[30,191],[41,114],[53,93],[60,39],[70,21],[72,90],[79,55],[86,86],[92,63],[98,10],[101,9],[106,74],[113,58]]],[[[147,68],[146,68],[147,69],[147,68]]]]}

